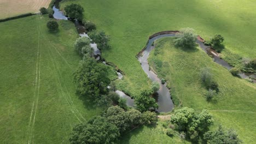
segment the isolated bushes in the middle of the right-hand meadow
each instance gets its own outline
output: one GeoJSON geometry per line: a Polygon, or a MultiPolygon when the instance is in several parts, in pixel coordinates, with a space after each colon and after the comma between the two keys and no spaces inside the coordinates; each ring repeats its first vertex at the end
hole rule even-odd
{"type": "Polygon", "coordinates": [[[201,81],[207,89],[206,100],[210,101],[219,92],[218,83],[212,78],[212,73],[210,68],[203,68],[201,70],[201,81]]]}

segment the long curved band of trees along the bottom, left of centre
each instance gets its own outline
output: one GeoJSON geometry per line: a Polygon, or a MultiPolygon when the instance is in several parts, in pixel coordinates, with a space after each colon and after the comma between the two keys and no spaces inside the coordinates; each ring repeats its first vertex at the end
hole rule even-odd
{"type": "Polygon", "coordinates": [[[130,109],[125,111],[119,106],[111,106],[103,116],[75,125],[69,141],[77,143],[115,143],[125,131],[139,125],[155,124],[156,113],[130,109]]]}

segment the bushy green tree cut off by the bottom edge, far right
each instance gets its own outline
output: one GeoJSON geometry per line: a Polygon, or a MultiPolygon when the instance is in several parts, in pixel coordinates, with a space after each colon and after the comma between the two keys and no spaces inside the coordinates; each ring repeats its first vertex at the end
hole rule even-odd
{"type": "Polygon", "coordinates": [[[216,131],[208,131],[203,135],[203,139],[211,144],[240,144],[242,140],[238,138],[236,131],[233,129],[225,130],[220,125],[216,131]]]}

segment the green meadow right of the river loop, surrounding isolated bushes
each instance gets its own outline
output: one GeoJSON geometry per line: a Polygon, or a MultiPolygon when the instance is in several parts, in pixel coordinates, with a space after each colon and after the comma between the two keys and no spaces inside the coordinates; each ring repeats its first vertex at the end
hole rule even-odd
{"type": "Polygon", "coordinates": [[[158,71],[159,77],[168,81],[172,97],[179,98],[183,106],[197,111],[210,110],[215,125],[234,128],[245,143],[254,143],[256,85],[232,76],[227,69],[211,61],[199,47],[194,50],[174,47],[172,39],[158,40],[149,57],[149,63],[158,71]],[[156,56],[155,51],[159,52],[156,56]],[[162,65],[156,62],[162,62],[162,65]],[[211,68],[220,89],[219,99],[210,103],[203,96],[206,89],[200,82],[200,69],[204,67],[211,68]]]}

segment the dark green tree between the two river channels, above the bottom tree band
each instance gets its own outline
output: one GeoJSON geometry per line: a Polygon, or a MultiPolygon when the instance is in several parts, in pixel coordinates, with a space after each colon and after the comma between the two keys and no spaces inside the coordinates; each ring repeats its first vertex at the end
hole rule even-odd
{"type": "Polygon", "coordinates": [[[152,91],[143,90],[141,94],[135,98],[134,104],[136,105],[136,109],[141,112],[147,111],[150,108],[157,109],[158,104],[151,96],[152,91]]]}

